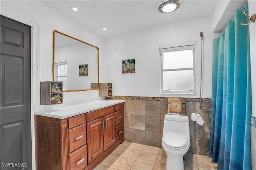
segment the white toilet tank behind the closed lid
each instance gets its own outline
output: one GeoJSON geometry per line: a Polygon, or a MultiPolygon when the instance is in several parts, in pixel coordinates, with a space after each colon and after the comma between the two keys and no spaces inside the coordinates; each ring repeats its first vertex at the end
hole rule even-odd
{"type": "Polygon", "coordinates": [[[166,114],[164,116],[163,135],[168,132],[180,133],[189,137],[188,116],[166,114]]]}

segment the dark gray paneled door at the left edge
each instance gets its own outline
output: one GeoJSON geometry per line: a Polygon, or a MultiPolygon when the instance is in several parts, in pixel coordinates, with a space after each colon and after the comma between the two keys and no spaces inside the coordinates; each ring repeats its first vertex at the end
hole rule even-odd
{"type": "Polygon", "coordinates": [[[31,27],[4,16],[1,16],[0,21],[1,170],[30,170],[31,27]]]}

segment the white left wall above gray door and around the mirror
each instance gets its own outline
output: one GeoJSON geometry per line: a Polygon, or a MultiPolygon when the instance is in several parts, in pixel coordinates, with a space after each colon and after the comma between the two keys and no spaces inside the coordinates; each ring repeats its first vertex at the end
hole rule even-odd
{"type": "MultiPolygon", "coordinates": [[[[48,8],[39,1],[1,1],[1,14],[8,11],[16,16],[22,16],[39,25],[39,76],[40,81],[52,81],[52,31],[58,30],[72,37],[81,39],[92,45],[102,48],[102,37],[92,33],[78,23],[62,16],[58,12],[48,8]]],[[[8,16],[6,16],[8,17],[8,16]]],[[[12,18],[15,19],[15,18],[12,18]]],[[[39,82],[38,82],[39,83],[39,82]]],[[[40,92],[37,96],[40,96],[40,92]]],[[[74,98],[87,98],[95,92],[68,92],[64,93],[65,100],[74,98]],[[89,94],[89,96],[88,96],[89,94]]]]}

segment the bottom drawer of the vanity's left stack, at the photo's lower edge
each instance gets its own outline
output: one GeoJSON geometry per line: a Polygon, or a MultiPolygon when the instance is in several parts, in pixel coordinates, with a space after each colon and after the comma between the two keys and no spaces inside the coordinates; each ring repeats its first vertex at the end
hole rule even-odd
{"type": "Polygon", "coordinates": [[[69,169],[82,170],[87,166],[87,146],[84,145],[80,149],[68,155],[69,169]]]}

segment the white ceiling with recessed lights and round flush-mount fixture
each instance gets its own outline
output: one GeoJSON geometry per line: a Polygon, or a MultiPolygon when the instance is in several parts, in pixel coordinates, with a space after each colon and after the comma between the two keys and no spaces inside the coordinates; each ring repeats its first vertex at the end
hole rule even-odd
{"type": "Polygon", "coordinates": [[[103,37],[211,16],[216,5],[216,0],[182,0],[178,10],[162,14],[158,11],[160,0],[43,0],[40,2],[103,37]],[[79,10],[74,12],[72,6],[78,7],[79,10]],[[107,30],[103,31],[103,27],[107,30]]]}

